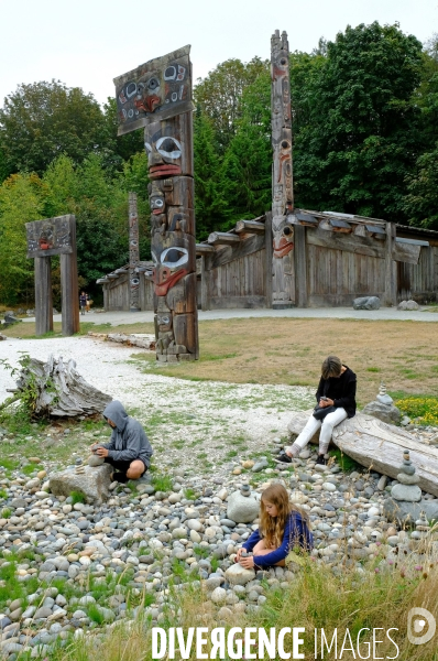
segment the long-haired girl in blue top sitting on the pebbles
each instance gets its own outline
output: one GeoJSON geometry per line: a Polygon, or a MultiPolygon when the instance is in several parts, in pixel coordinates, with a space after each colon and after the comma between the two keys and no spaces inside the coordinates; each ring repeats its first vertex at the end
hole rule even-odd
{"type": "Polygon", "coordinates": [[[239,549],[234,562],[247,570],[284,567],[288,561],[299,564],[295,548],[311,551],[313,546],[307,514],[289,502],[283,485],[274,484],[262,494],[259,530],[239,549]]]}

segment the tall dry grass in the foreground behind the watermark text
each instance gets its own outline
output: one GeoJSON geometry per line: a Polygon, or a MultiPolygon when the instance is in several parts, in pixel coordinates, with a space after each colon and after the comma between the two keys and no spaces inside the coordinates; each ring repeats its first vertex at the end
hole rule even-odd
{"type": "MultiPolygon", "coordinates": [[[[205,551],[195,548],[195,554],[202,557],[205,551]]],[[[277,585],[270,589],[264,585],[267,600],[258,613],[251,609],[239,614],[232,611],[230,616],[222,615],[221,619],[218,619],[218,609],[206,592],[197,582],[190,581],[189,573],[185,573],[180,564],[174,561],[174,574],[184,581],[185,586],[183,589],[176,589],[171,583],[167,607],[158,626],[165,630],[169,627],[182,627],[185,635],[189,627],[202,626],[207,628],[204,638],[208,641],[216,627],[223,627],[226,637],[234,626],[242,629],[263,628],[267,632],[275,627],[276,635],[286,627],[303,627],[305,631],[300,632],[299,637],[304,642],[299,652],[305,659],[315,658],[314,635],[317,630],[317,658],[329,661],[340,658],[343,661],[358,658],[437,661],[438,651],[434,638],[426,644],[415,646],[406,637],[408,613],[413,607],[421,606],[438,617],[438,570],[428,564],[429,561],[430,557],[425,557],[420,572],[415,571],[413,566],[401,570],[399,566],[383,566],[380,561],[372,561],[365,567],[366,573],[360,574],[346,567],[339,575],[333,575],[328,566],[308,560],[304,570],[287,588],[277,585]],[[322,628],[329,642],[337,629],[337,650],[335,646],[330,652],[326,648],[324,654],[320,643],[322,628]],[[376,643],[374,650],[373,629],[376,629],[375,640],[382,641],[376,643]],[[386,636],[386,631],[391,638],[386,636]],[[343,640],[347,642],[340,653],[343,640]]],[[[100,615],[98,608],[90,607],[88,613],[94,621],[97,621],[100,615]]],[[[243,639],[244,636],[242,633],[237,638],[243,639]]],[[[286,653],[293,652],[291,635],[285,637],[284,649],[286,653]]],[[[210,650],[211,643],[207,642],[202,652],[209,655],[210,650]]],[[[256,646],[250,651],[256,653],[256,646]]],[[[239,654],[239,658],[248,658],[243,653],[239,654]]],[[[53,661],[143,661],[152,658],[151,624],[143,615],[134,622],[118,622],[103,635],[101,631],[96,635],[90,632],[80,640],[70,640],[63,650],[51,654],[53,661]]],[[[193,644],[186,658],[190,661],[199,658],[196,644],[193,644]]],[[[229,660],[228,655],[221,658],[229,660]]],[[[263,658],[267,658],[266,653],[263,658]]]]}

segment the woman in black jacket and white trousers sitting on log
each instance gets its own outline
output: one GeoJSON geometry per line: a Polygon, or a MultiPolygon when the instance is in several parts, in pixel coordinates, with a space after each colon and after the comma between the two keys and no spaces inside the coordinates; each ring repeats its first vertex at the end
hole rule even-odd
{"type": "Polygon", "coordinates": [[[289,464],[306,447],[314,434],[319,434],[317,464],[327,464],[327,451],[333,427],[355,415],[355,373],[342,365],[337,356],[328,356],[322,362],[321,378],[316,392],[316,407],[306,426],[291,447],[277,457],[277,462],[289,464]]]}

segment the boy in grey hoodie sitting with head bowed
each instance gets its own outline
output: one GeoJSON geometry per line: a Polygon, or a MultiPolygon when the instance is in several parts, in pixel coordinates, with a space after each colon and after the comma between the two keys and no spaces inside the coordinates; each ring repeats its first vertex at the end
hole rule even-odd
{"type": "Polygon", "coordinates": [[[127,483],[139,479],[150,467],[153,454],[151,443],[140,422],[130,418],[123,404],[113,400],[103,411],[112,427],[109,443],[99,444],[95,454],[103,457],[116,469],[114,479],[127,483]]]}

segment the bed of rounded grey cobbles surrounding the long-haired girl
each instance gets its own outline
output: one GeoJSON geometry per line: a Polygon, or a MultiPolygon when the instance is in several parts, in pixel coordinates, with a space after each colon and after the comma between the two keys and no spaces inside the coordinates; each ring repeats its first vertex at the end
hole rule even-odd
{"type": "MultiPolygon", "coordinates": [[[[30,476],[17,472],[8,478],[3,473],[2,658],[13,660],[26,650],[32,658],[44,658],[72,636],[103,630],[141,613],[160,624],[169,585],[184,585],[190,576],[205,590],[217,621],[260,608],[269,590],[287,587],[299,567],[241,570],[237,575],[233,570],[230,575],[234,553],[258,520],[239,522],[244,502],[234,506],[231,518],[228,501],[250,480],[250,499],[260,499],[271,480],[288,488],[292,501],[309,513],[313,560],[329,564],[335,573],[346,567],[363,573],[363,562],[372,559],[376,571],[405,560],[423,567],[423,535],[397,531],[382,516],[394,480],[375,473],[348,475],[336,463],[316,466],[316,455],[307,448],[294,465],[272,467],[271,457],[281,445],[275,438],[266,459],[236,460],[210,478],[175,469],[165,481],[147,476],[135,485],[120,485],[99,507],[51,495],[50,475],[41,465],[30,476]]],[[[434,535],[430,550],[438,551],[434,535]]]]}

